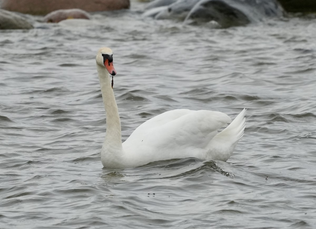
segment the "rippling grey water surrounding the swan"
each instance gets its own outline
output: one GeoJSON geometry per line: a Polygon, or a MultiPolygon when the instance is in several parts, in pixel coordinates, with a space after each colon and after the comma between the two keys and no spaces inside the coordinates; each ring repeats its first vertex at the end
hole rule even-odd
{"type": "Polygon", "coordinates": [[[0,32],[0,228],[315,228],[315,19],[211,29],[141,7],[0,32]],[[167,110],[246,107],[231,158],[102,168],[101,46],[123,140],[167,110]]]}

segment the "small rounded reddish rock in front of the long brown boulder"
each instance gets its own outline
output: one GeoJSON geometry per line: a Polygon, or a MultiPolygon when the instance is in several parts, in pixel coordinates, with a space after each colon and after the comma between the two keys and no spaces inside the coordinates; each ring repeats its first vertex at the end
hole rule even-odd
{"type": "Polygon", "coordinates": [[[45,22],[57,23],[66,19],[90,19],[89,14],[82,9],[58,9],[44,17],[45,22]]]}

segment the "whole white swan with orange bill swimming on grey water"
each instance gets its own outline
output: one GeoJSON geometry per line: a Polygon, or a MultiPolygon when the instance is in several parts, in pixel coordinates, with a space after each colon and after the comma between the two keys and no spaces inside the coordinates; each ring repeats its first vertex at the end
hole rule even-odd
{"type": "Polygon", "coordinates": [[[245,109],[220,133],[217,130],[231,122],[228,115],[218,111],[167,111],[141,124],[122,143],[118,106],[111,87],[113,54],[101,48],[96,65],[104,108],[106,136],[101,162],[106,168],[132,168],[158,160],[196,157],[203,160],[226,161],[244,134],[245,109]]]}

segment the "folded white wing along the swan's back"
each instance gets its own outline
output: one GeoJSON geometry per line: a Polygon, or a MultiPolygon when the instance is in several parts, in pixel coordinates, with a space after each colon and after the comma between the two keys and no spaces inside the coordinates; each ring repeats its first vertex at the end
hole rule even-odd
{"type": "Polygon", "coordinates": [[[218,111],[167,111],[140,125],[123,143],[123,148],[134,156],[137,151],[151,154],[152,150],[159,150],[161,156],[156,155],[156,159],[167,159],[163,155],[170,155],[170,150],[185,154],[205,148],[217,130],[229,122],[229,116],[218,111]]]}

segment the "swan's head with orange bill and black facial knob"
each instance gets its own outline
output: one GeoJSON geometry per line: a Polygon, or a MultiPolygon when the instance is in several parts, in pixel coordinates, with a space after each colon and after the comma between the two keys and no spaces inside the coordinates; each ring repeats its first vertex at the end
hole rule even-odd
{"type": "Polygon", "coordinates": [[[106,68],[111,75],[116,75],[116,71],[113,66],[113,52],[110,48],[103,47],[98,51],[95,57],[97,65],[106,68]]]}

